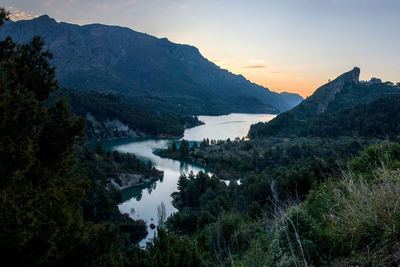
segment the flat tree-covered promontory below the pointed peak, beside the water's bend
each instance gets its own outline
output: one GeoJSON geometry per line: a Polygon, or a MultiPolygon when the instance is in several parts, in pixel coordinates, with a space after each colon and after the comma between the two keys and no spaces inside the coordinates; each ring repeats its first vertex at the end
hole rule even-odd
{"type": "Polygon", "coordinates": [[[321,160],[325,158],[326,162],[319,164],[333,164],[331,161],[338,157],[337,154],[346,158],[363,146],[379,142],[382,140],[352,137],[270,137],[245,141],[236,139],[202,142],[200,146],[192,146],[187,152],[170,146],[157,151],[157,154],[160,157],[203,166],[220,179],[229,180],[239,179],[249,171],[255,174],[266,170],[273,175],[279,172],[288,174],[290,169],[279,170],[288,164],[293,165],[293,170],[297,172],[301,168],[305,169],[301,159],[304,162],[306,157],[310,160],[314,157],[321,160]]]}

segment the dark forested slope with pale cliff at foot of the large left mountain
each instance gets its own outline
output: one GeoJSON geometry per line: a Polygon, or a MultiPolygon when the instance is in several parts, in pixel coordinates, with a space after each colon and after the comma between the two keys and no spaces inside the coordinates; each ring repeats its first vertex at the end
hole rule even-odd
{"type": "Polygon", "coordinates": [[[66,98],[75,116],[86,119],[87,139],[134,136],[180,136],[185,128],[200,125],[197,117],[154,114],[134,107],[113,94],[62,88],[48,102],[66,98]]]}

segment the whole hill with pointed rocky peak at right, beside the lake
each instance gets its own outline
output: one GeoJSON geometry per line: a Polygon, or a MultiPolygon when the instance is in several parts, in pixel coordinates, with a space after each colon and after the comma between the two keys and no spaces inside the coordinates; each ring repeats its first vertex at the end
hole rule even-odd
{"type": "Polygon", "coordinates": [[[395,134],[397,124],[391,120],[400,106],[393,99],[399,99],[400,87],[375,80],[360,82],[359,76],[359,68],[340,75],[295,108],[270,122],[252,125],[249,137],[395,134]]]}

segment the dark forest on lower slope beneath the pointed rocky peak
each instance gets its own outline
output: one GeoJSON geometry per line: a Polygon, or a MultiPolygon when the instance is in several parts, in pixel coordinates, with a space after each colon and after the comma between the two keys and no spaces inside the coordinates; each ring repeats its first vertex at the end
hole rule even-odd
{"type": "Polygon", "coordinates": [[[249,136],[362,136],[397,139],[400,132],[399,103],[400,95],[393,95],[301,120],[287,112],[268,124],[252,125],[249,136]]]}

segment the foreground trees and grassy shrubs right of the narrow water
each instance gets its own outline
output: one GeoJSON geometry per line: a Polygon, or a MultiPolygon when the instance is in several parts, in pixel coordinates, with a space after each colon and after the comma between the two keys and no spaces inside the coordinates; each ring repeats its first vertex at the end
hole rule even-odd
{"type": "Polygon", "coordinates": [[[182,175],[167,228],[190,236],[211,265],[397,265],[399,152],[397,143],[367,147],[304,202],[280,198],[270,184],[260,204],[266,178],[226,185],[202,172],[182,175]]]}

